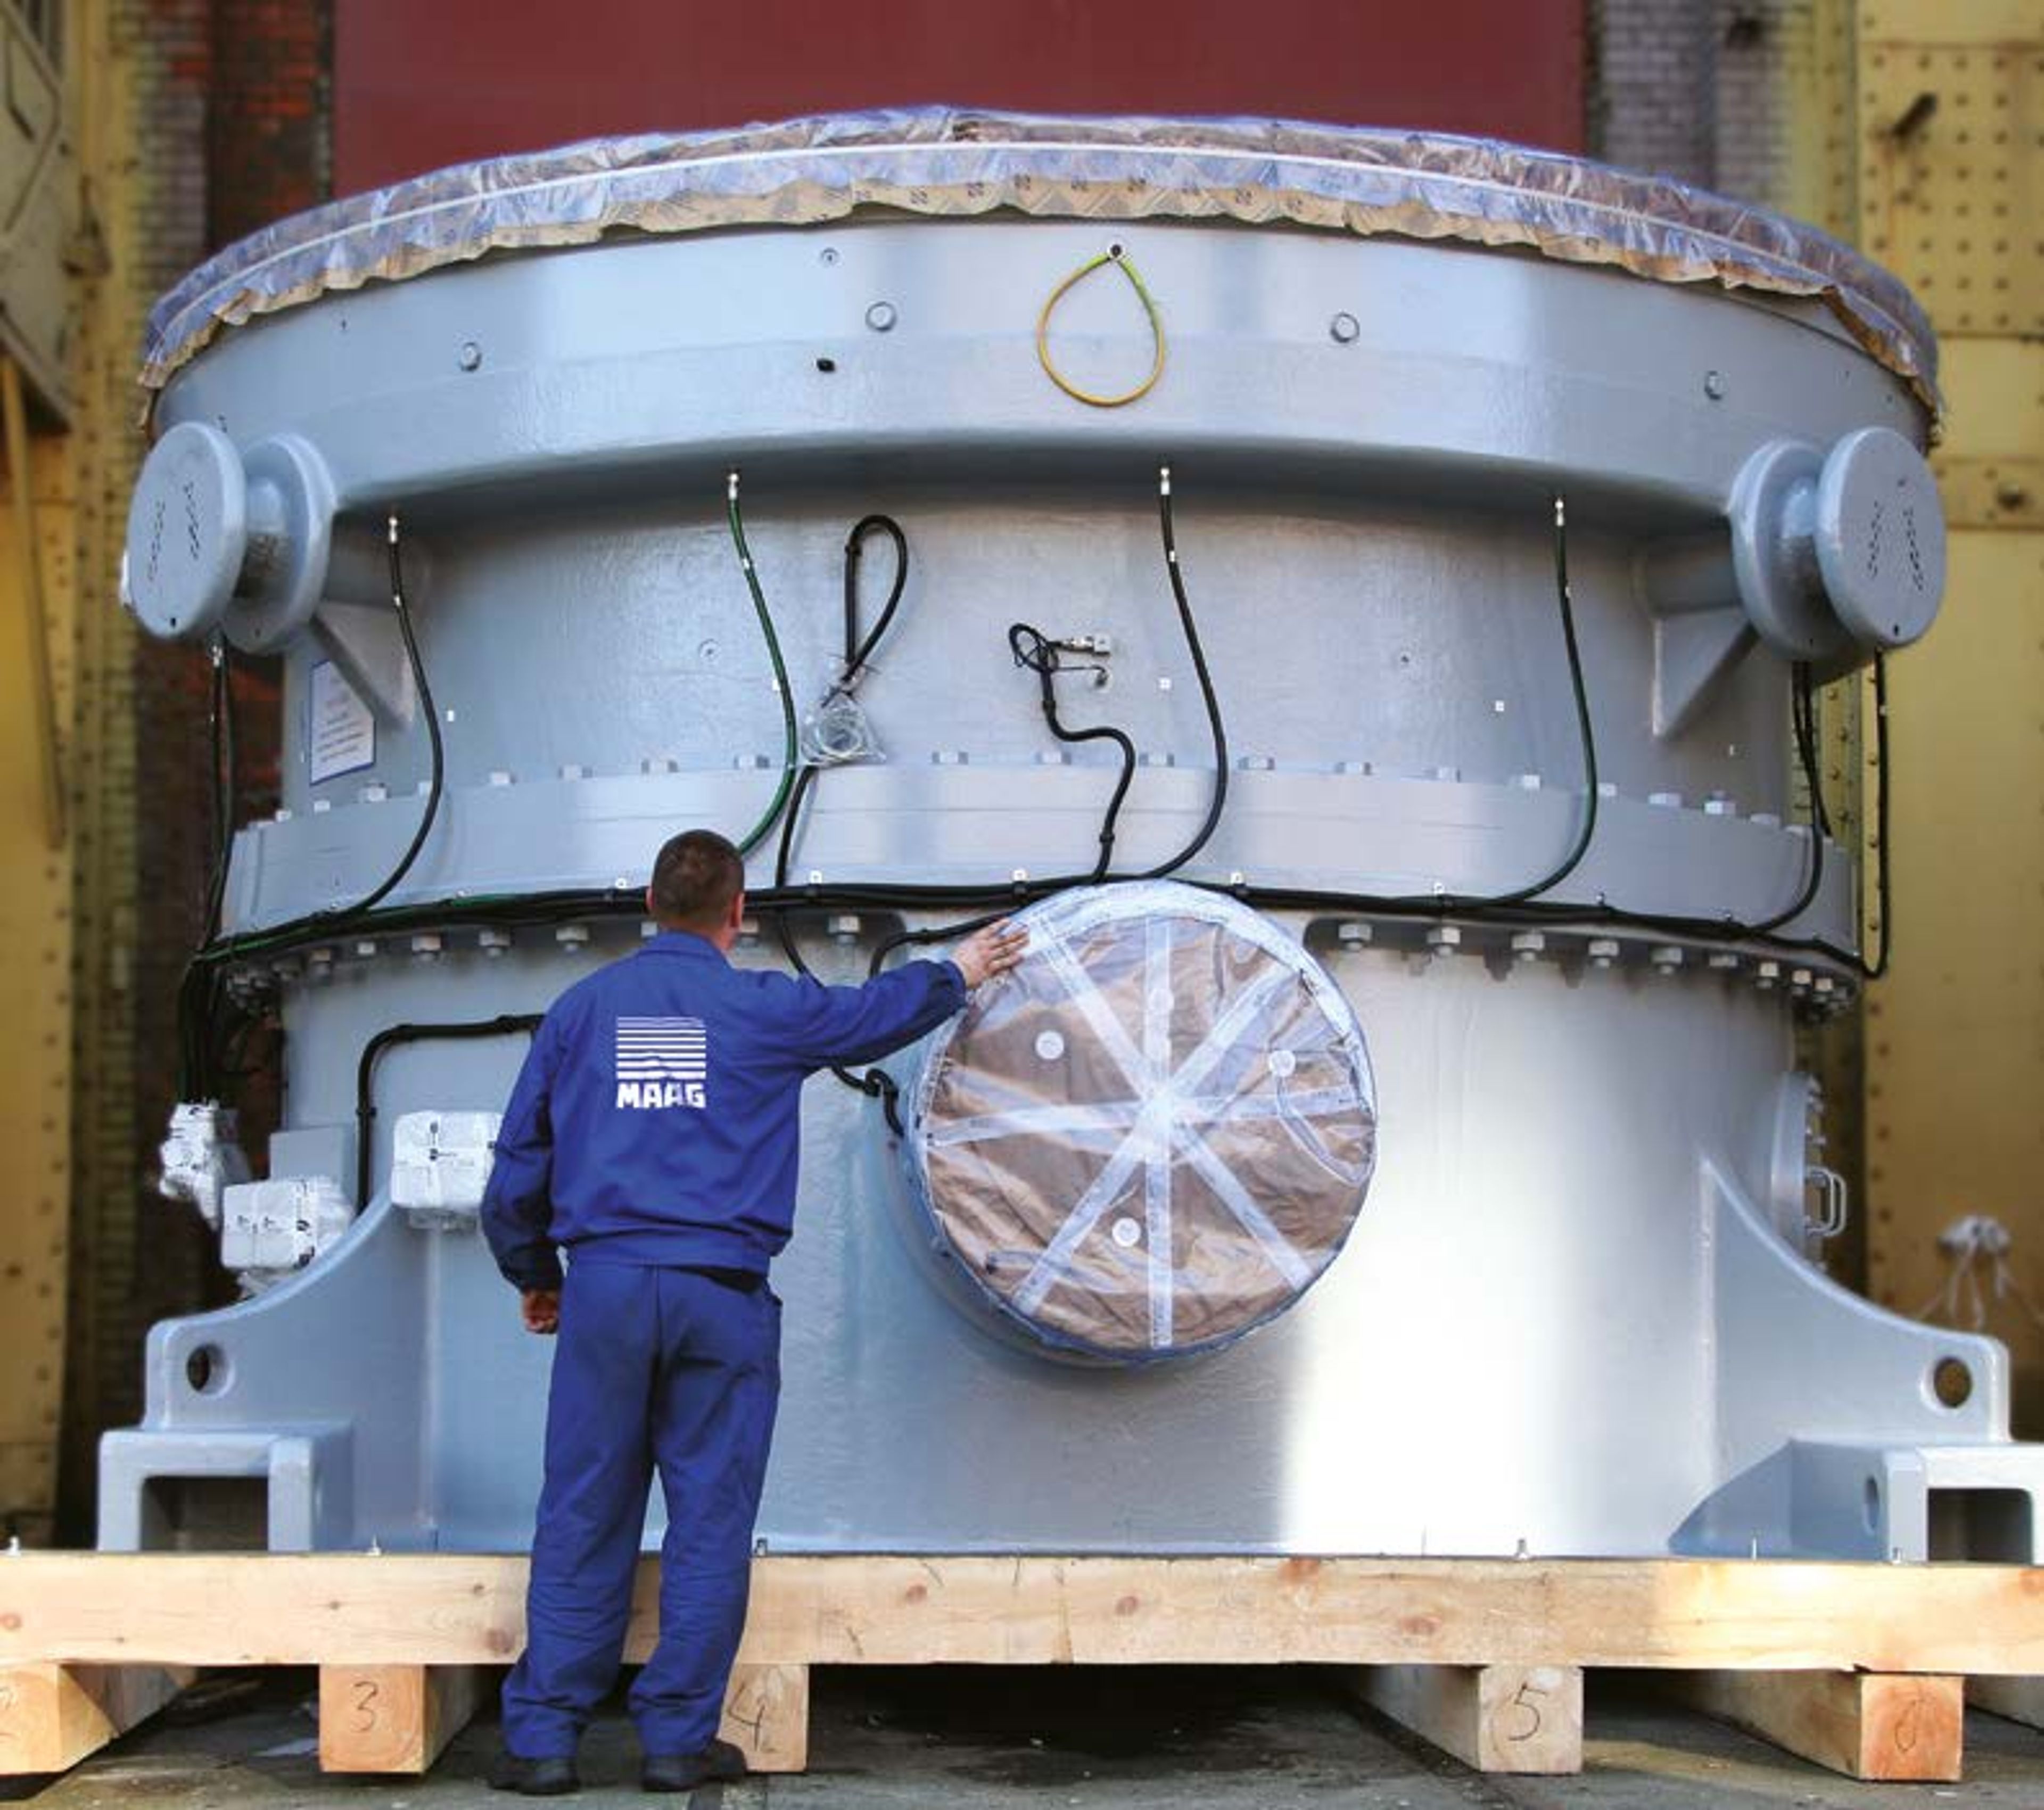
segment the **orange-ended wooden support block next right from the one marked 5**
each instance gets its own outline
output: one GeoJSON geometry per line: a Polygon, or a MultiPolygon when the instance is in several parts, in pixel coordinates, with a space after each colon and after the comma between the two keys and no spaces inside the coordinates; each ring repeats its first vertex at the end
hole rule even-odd
{"type": "Polygon", "coordinates": [[[1854,1779],[1958,1777],[1966,1716],[1956,1677],[1705,1671],[1678,1675],[1674,1693],[1854,1779]]]}

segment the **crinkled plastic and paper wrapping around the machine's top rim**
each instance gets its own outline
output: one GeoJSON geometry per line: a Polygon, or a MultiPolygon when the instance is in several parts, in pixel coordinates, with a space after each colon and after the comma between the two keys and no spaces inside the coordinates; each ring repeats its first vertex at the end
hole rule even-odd
{"type": "Polygon", "coordinates": [[[1930,321],[1901,280],[1815,227],[1670,178],[1441,133],[950,106],[589,139],[313,209],[229,245],[157,303],[141,382],[161,389],[223,325],[489,252],[818,225],[863,209],[1466,239],[1658,282],[1815,297],[1940,407],[1930,321]]]}

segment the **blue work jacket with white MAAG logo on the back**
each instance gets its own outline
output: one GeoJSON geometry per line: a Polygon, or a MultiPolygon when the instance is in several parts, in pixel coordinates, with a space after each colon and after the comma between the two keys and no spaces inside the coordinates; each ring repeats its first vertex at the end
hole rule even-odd
{"type": "Polygon", "coordinates": [[[687,931],[654,937],[533,1035],[482,1194],[497,1268],[558,1288],[566,1246],[574,1262],[764,1274],[793,1231],[803,1080],[963,1004],[950,961],[824,986],[732,967],[687,931]]]}

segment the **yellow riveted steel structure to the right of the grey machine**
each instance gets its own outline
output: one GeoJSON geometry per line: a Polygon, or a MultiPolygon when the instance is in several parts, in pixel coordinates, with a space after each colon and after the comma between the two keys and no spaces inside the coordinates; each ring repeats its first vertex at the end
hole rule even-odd
{"type": "Polygon", "coordinates": [[[1858,6],[1860,243],[1930,307],[1946,612],[1891,675],[1897,955],[1864,1045],[1868,1284],[2015,1356],[2044,1436],[2044,0],[1858,6]],[[1948,1293],[1940,1237],[1999,1221],[1948,1293]],[[1997,1288],[1999,1282],[1999,1288],[1997,1288]]]}

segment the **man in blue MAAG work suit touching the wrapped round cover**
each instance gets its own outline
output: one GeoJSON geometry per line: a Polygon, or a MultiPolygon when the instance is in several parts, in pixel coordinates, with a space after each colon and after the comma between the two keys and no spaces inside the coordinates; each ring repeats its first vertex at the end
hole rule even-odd
{"type": "Polygon", "coordinates": [[[654,1466],[660,1642],[632,1689],[644,1785],[744,1773],[715,1734],[781,1393],[766,1266],[795,1213],[801,1084],[922,1037],[1026,943],[993,924],[950,961],[856,988],[732,967],[744,863],[709,830],[660,849],[646,904],[660,935],[568,988],[533,1035],[482,1198],[525,1325],[560,1333],[527,1644],[491,1775],[527,1796],[580,1783],[574,1751],[617,1677],[654,1466]]]}

